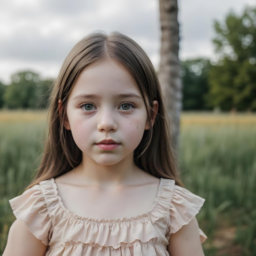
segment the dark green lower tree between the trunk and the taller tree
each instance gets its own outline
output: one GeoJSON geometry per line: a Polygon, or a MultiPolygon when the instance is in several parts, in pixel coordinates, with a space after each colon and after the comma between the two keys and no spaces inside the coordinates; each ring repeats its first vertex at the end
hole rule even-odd
{"type": "Polygon", "coordinates": [[[205,95],[209,92],[208,74],[211,64],[207,59],[182,62],[183,110],[209,109],[205,95]]]}

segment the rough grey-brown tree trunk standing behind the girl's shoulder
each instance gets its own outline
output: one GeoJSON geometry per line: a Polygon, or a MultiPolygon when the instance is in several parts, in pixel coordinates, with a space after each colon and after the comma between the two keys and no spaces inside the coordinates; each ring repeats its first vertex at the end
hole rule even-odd
{"type": "Polygon", "coordinates": [[[170,120],[173,147],[178,149],[180,112],[182,109],[182,81],[178,56],[177,0],[159,0],[159,11],[162,37],[158,78],[170,120]]]}

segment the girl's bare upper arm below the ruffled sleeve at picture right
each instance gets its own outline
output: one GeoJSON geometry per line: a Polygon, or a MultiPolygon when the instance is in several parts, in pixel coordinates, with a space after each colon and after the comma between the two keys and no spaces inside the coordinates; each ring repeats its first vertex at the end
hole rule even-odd
{"type": "Polygon", "coordinates": [[[170,256],[204,256],[198,222],[194,217],[188,225],[171,234],[167,250],[170,256]]]}

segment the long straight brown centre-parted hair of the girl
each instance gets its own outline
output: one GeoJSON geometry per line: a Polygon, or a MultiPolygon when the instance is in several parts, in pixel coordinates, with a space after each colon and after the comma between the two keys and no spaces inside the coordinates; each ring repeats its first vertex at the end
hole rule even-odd
{"type": "MultiPolygon", "coordinates": [[[[170,178],[181,185],[175,157],[171,149],[168,118],[155,69],[144,50],[131,38],[118,32],[106,35],[93,32],[77,43],[65,59],[52,90],[49,110],[49,134],[38,172],[29,187],[42,180],[56,178],[78,166],[82,161],[81,150],[76,146],[71,131],[64,127],[67,97],[82,70],[106,58],[118,61],[135,80],[152,119],[153,101],[159,109],[153,127],[145,130],[134,152],[139,168],[155,177],[170,178]],[[61,99],[62,110],[58,101],[61,99]]],[[[28,187],[28,188],[29,188],[28,187]]]]}

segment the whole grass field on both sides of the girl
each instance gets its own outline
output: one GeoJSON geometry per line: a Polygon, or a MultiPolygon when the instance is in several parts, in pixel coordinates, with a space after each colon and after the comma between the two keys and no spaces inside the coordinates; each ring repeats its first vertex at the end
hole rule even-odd
{"type": "MultiPolygon", "coordinates": [[[[8,200],[29,183],[43,150],[45,112],[0,112],[0,254],[14,220],[8,200]]],[[[198,214],[206,256],[256,255],[256,115],[183,113],[180,170],[206,198],[198,214]]]]}

